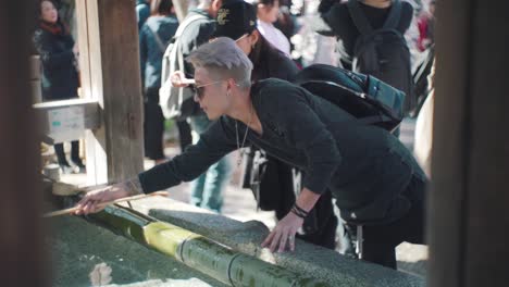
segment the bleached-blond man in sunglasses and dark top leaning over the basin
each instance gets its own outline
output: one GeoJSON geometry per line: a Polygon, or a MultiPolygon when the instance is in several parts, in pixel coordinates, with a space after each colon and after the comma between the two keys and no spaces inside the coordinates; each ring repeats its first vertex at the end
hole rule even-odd
{"type": "Polygon", "coordinates": [[[396,137],[288,82],[251,85],[252,63],[232,39],[206,43],[187,60],[195,66],[195,100],[215,122],[183,154],[88,192],[77,214],[136,190],[149,194],[191,180],[228,152],[253,145],[306,172],[291,211],[262,247],[295,250],[295,234],[327,189],[342,217],[363,229],[363,260],[395,269],[397,245],[423,244],[426,177],[396,137]]]}

